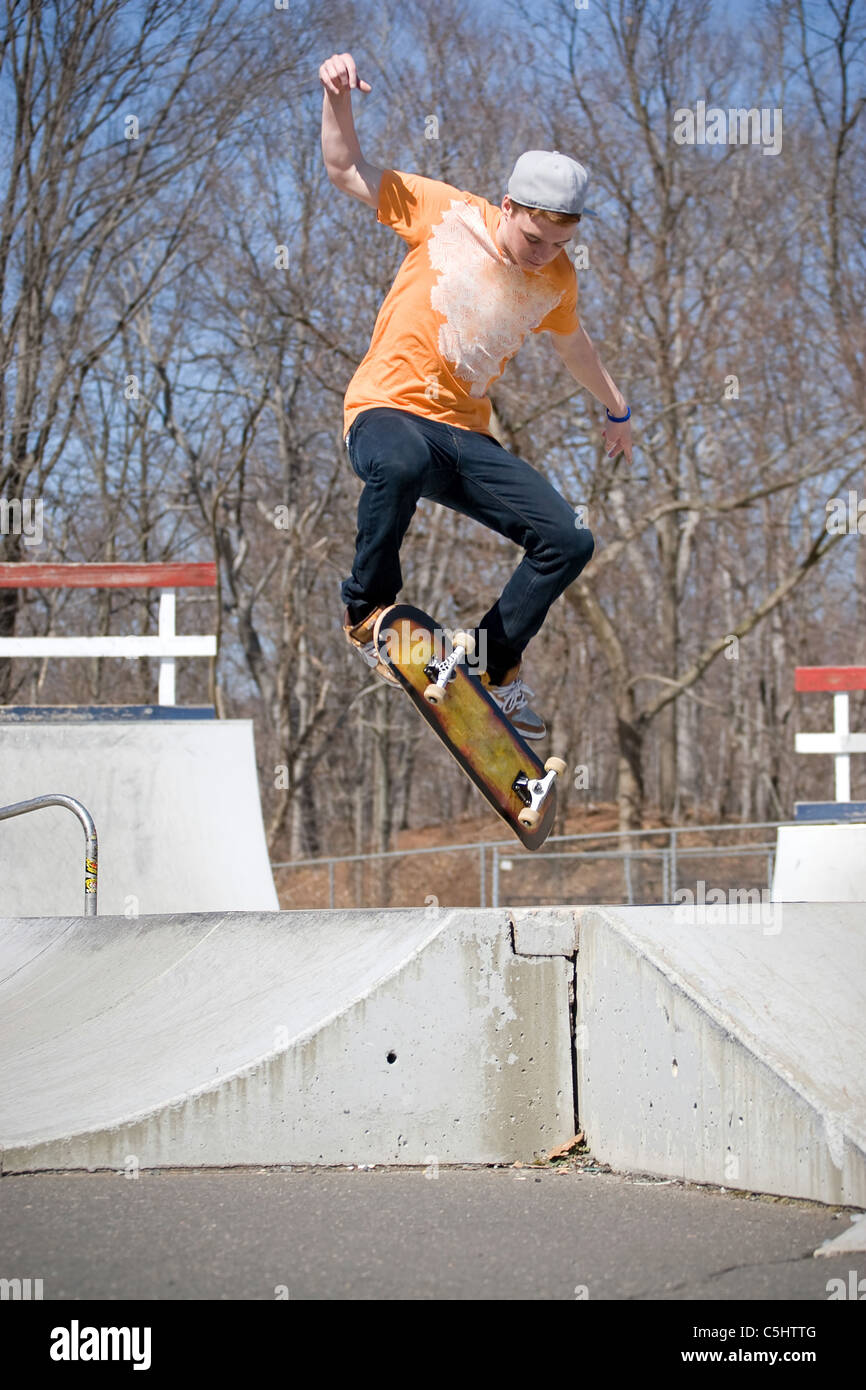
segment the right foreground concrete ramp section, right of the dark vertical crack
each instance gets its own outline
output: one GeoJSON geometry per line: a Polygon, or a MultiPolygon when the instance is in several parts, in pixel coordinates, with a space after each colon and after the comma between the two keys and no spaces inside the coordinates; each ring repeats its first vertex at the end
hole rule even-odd
{"type": "Polygon", "coordinates": [[[866,906],[580,912],[577,1088],[624,1169],[866,1205],[866,906]]]}

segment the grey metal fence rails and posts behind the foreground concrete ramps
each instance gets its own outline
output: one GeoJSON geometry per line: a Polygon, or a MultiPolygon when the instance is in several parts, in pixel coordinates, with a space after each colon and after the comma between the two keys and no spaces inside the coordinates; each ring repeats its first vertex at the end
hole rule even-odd
{"type": "MultiPolygon", "coordinates": [[[[773,866],[776,859],[774,833],[780,826],[791,824],[784,820],[756,820],[742,824],[712,824],[712,826],[655,826],[646,830],[601,830],[588,831],[580,835],[550,835],[544,851],[527,852],[518,848],[513,840],[485,840],[470,841],[456,845],[428,845],[414,849],[388,849],[374,853],[359,855],[324,855],[316,859],[289,859],[272,862],[271,869],[327,869],[328,870],[328,906],[335,906],[335,867],[336,865],[386,863],[395,859],[409,859],[414,855],[443,855],[443,853],[474,853],[478,856],[478,902],[484,906],[498,908],[502,903],[502,873],[507,873],[517,862],[521,867],[539,860],[570,860],[595,862],[610,860],[623,866],[623,902],[634,903],[634,869],[641,860],[655,860],[660,863],[662,872],[662,899],[671,902],[674,892],[680,887],[680,870],[684,862],[692,859],[723,859],[723,858],[759,858],[766,859],[766,881],[771,885],[773,866]],[[720,837],[735,835],[741,831],[773,831],[773,838],[763,838],[745,844],[714,844],[714,845],[687,845],[683,840],[695,834],[713,834],[720,837]],[[642,840],[664,840],[662,845],[645,845],[642,840]],[[617,848],[602,848],[610,842],[617,848]],[[627,842],[623,848],[623,842],[627,842]],[[599,844],[601,842],[601,844],[599,844]],[[599,845],[598,848],[566,848],[569,845],[599,845]],[[562,847],[562,848],[559,848],[562,847]]],[[[553,866],[553,865],[552,865],[553,866]]],[[[359,902],[360,906],[360,902],[359,902]]]]}

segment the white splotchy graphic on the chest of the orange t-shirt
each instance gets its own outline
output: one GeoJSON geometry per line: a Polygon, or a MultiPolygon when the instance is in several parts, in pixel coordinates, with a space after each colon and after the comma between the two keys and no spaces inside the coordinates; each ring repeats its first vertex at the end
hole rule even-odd
{"type": "Polygon", "coordinates": [[[430,302],[445,322],[439,352],[470,396],[484,396],[525,335],[550,313],[562,293],[542,275],[524,274],[505,261],[481,210],[452,202],[427,243],[439,271],[430,302]]]}

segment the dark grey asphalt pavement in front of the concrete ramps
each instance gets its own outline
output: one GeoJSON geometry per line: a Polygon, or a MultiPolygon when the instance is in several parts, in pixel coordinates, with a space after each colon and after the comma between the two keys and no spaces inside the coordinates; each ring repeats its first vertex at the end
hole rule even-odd
{"type": "Polygon", "coordinates": [[[575,1166],[7,1175],[0,1209],[43,1300],[866,1294],[866,1254],[813,1258],[845,1209],[575,1166]]]}

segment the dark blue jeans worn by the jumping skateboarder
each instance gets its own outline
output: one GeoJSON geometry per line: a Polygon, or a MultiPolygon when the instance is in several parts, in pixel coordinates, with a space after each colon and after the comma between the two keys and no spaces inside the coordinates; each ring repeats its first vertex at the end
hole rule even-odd
{"type": "Polygon", "coordinates": [[[418,498],[430,498],[523,546],[524,556],[478,630],[491,676],[514,666],[548,609],[588,563],[594,542],[566,499],[489,435],[406,410],[375,407],[346,436],[364,484],[352,575],[342,596],[353,621],[393,603],[403,577],[400,545],[418,498]]]}

